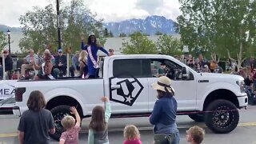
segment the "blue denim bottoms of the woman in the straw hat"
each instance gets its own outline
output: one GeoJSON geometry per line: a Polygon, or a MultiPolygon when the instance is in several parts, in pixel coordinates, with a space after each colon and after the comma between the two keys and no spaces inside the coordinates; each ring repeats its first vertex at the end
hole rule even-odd
{"type": "Polygon", "coordinates": [[[154,134],[154,144],[178,144],[179,140],[178,130],[170,134],[154,134]]]}

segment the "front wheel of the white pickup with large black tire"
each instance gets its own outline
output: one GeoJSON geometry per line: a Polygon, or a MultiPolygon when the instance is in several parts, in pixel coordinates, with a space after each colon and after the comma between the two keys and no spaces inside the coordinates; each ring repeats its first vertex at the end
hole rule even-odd
{"type": "Polygon", "coordinates": [[[239,113],[234,104],[225,99],[218,99],[206,107],[204,114],[206,126],[214,133],[226,134],[238,126],[239,113]]]}

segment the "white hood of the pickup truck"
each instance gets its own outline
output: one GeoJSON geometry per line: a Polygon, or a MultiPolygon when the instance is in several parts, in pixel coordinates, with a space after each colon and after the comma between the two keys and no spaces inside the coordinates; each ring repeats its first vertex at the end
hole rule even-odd
{"type": "Polygon", "coordinates": [[[201,78],[210,78],[210,79],[215,79],[215,80],[227,80],[229,79],[230,81],[243,81],[244,78],[240,75],[236,74],[216,74],[216,73],[199,73],[201,75],[201,78]]]}

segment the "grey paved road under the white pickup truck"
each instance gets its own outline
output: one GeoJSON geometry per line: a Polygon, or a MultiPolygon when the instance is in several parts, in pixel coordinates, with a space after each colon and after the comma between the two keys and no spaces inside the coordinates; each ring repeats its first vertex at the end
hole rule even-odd
{"type": "MultiPolygon", "coordinates": [[[[0,115],[0,144],[18,143],[17,126],[19,118],[13,115],[0,115]]],[[[248,110],[240,110],[240,122],[238,127],[230,134],[214,134],[206,128],[202,122],[194,122],[187,116],[178,116],[178,130],[181,134],[181,144],[186,142],[186,130],[190,126],[199,125],[205,128],[206,137],[203,143],[207,144],[256,144],[256,106],[250,106],[248,110]]],[[[79,135],[79,142],[86,143],[88,123],[90,118],[83,119],[82,131],[79,135]]],[[[120,144],[123,141],[122,130],[126,124],[135,124],[139,127],[143,144],[153,142],[152,126],[148,118],[118,118],[110,119],[109,138],[111,144],[120,144]]],[[[58,142],[52,141],[53,144],[58,142]]]]}

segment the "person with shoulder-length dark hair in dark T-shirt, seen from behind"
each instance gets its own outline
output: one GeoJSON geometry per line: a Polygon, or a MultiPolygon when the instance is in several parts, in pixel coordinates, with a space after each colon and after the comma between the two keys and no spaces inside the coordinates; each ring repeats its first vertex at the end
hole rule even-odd
{"type": "Polygon", "coordinates": [[[54,118],[45,109],[46,100],[43,94],[34,90],[26,102],[29,110],[24,111],[18,124],[18,139],[20,144],[50,144],[50,134],[55,133],[54,118]]]}

